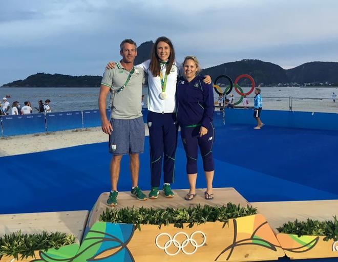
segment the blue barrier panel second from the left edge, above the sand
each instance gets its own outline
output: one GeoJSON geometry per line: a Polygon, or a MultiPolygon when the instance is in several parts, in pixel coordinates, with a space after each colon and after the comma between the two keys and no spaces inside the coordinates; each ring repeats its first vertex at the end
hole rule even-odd
{"type": "Polygon", "coordinates": [[[55,112],[46,114],[47,132],[82,128],[82,112],[55,112]]]}

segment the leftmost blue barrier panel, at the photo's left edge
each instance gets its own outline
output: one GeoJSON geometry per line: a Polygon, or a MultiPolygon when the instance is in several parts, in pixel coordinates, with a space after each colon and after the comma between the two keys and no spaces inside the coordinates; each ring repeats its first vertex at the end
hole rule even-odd
{"type": "Polygon", "coordinates": [[[17,136],[46,131],[44,114],[2,116],[3,136],[17,136]]]}

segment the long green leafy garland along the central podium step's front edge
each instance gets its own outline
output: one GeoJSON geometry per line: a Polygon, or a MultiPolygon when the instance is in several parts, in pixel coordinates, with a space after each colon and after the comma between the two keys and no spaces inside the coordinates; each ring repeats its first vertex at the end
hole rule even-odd
{"type": "Polygon", "coordinates": [[[205,222],[220,221],[227,223],[229,219],[237,217],[253,215],[257,213],[257,209],[247,206],[236,206],[228,203],[226,206],[209,206],[201,205],[189,208],[171,208],[153,209],[153,208],[122,208],[109,209],[100,215],[100,221],[112,223],[136,224],[138,229],[140,225],[168,225],[174,224],[175,227],[183,228],[183,223],[189,223],[189,227],[195,224],[205,222]]]}

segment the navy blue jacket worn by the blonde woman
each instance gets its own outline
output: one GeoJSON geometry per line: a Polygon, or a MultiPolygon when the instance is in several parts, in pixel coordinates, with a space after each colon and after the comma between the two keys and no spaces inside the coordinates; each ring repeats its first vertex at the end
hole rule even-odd
{"type": "Polygon", "coordinates": [[[177,80],[177,121],[180,126],[201,124],[210,128],[215,110],[213,84],[203,82],[197,75],[191,82],[183,77],[177,80]]]}

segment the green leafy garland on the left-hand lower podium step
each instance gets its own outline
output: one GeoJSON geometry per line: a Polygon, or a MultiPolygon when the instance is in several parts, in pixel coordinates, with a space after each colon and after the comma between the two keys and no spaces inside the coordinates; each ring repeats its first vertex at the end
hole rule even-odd
{"type": "Polygon", "coordinates": [[[0,237],[0,259],[3,255],[13,256],[21,259],[34,256],[34,251],[49,248],[60,248],[61,246],[71,245],[75,242],[75,236],[60,232],[48,233],[43,231],[40,234],[22,234],[17,231],[0,237]]]}

